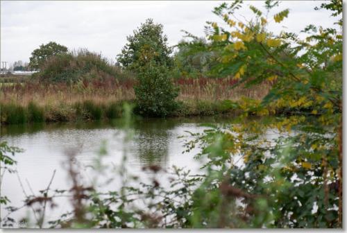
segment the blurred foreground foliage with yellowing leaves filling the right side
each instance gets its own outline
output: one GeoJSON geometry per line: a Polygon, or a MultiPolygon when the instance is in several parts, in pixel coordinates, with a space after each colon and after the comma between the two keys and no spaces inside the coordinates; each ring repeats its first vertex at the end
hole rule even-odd
{"type": "MultiPolygon", "coordinates": [[[[287,31],[276,35],[267,28],[269,17],[280,24],[289,15],[288,9],[271,15],[278,4],[265,1],[265,12],[249,6],[254,17],[245,21],[234,20],[244,19],[236,13],[242,1],[214,8],[230,26],[209,23],[210,49],[221,54],[214,71],[248,87],[276,80],[261,103],[240,103],[244,116],[281,107],[305,112],[277,123],[241,119],[197,135],[199,156],[209,162],[193,196],[195,227],[342,226],[342,30],[309,25],[304,39],[287,31]],[[282,135],[276,141],[262,136],[274,129],[282,135]]],[[[321,8],[341,17],[342,1],[321,8]]]]}

